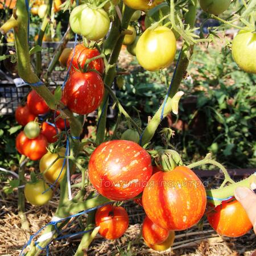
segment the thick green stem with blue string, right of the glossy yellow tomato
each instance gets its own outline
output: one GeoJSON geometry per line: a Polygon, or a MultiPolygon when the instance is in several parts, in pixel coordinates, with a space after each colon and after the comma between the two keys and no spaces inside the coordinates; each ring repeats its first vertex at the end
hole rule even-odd
{"type": "MultiPolygon", "coordinates": [[[[195,19],[196,19],[197,1],[194,0],[191,2],[192,3],[190,3],[188,6],[189,11],[185,15],[185,23],[189,24],[189,26],[192,28],[195,24],[195,19]]],[[[154,117],[152,117],[152,119],[148,123],[148,125],[142,135],[142,140],[141,140],[142,146],[144,146],[145,144],[147,144],[148,142],[151,141],[151,139],[153,138],[153,136],[155,134],[156,129],[160,125],[161,113],[162,113],[163,107],[164,107],[163,117],[166,117],[166,115],[171,112],[172,97],[174,97],[174,95],[176,94],[176,92],[179,88],[180,82],[182,81],[183,76],[185,75],[185,73],[187,71],[187,67],[189,64],[189,59],[192,55],[192,51],[193,51],[193,46],[188,46],[187,43],[184,43],[183,48],[181,49],[180,58],[176,65],[174,76],[172,78],[172,87],[171,87],[170,93],[168,94],[166,104],[164,106],[164,103],[163,103],[160,106],[158,111],[155,113],[154,117]]]]}

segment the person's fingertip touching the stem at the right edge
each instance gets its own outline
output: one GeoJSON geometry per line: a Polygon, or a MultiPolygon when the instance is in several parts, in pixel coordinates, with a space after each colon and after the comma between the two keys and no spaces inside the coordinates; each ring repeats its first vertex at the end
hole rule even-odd
{"type": "Polygon", "coordinates": [[[235,191],[235,197],[245,208],[256,233],[256,194],[249,188],[238,187],[235,191]]]}

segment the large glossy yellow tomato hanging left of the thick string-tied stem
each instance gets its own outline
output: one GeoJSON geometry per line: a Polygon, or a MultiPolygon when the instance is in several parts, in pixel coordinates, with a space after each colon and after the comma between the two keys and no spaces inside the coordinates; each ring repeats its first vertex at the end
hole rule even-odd
{"type": "Polygon", "coordinates": [[[176,38],[167,27],[148,28],[139,38],[136,56],[139,64],[148,71],[167,68],[174,60],[176,38]]]}

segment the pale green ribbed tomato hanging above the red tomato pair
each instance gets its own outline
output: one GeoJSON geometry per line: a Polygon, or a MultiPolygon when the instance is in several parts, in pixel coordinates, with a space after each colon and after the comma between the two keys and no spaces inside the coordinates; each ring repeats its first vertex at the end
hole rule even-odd
{"type": "Polygon", "coordinates": [[[109,31],[109,16],[103,9],[91,9],[86,3],[75,7],[69,17],[74,33],[88,40],[97,41],[105,37],[109,31]]]}

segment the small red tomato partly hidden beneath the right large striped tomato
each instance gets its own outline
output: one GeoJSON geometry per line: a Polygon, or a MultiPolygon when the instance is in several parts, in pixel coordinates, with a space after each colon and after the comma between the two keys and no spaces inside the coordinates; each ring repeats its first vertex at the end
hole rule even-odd
{"type": "Polygon", "coordinates": [[[142,224],[142,237],[147,243],[150,245],[159,245],[159,243],[166,241],[168,236],[169,230],[156,225],[147,216],[144,218],[142,224]]]}

